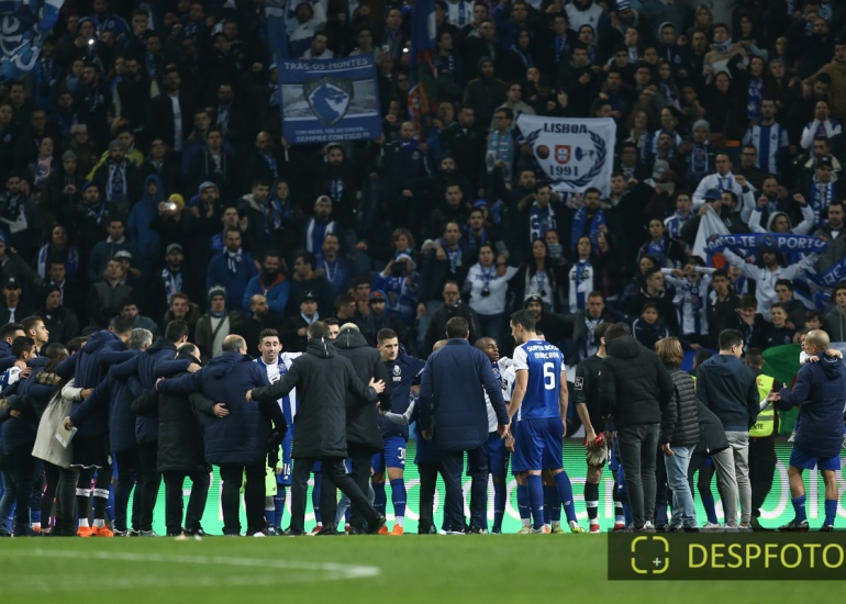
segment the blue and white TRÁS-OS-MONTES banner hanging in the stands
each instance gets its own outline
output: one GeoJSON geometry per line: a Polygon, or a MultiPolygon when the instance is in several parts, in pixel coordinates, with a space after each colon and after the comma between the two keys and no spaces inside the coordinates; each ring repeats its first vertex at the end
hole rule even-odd
{"type": "Polygon", "coordinates": [[[376,139],[381,135],[372,54],[282,60],[282,133],[291,145],[376,139]]]}

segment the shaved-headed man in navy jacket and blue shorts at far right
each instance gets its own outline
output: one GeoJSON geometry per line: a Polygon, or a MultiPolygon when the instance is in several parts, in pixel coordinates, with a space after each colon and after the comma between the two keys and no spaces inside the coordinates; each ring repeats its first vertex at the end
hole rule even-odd
{"type": "Polygon", "coordinates": [[[795,517],[779,530],[808,530],[802,471],[816,468],[825,482],[825,519],[820,530],[830,533],[834,530],[834,518],[837,515],[837,472],[841,470],[844,433],[846,368],[837,351],[828,349],[828,334],[822,329],[809,332],[805,353],[811,357],[811,362],[806,362],[799,370],[793,388],[784,388],[778,394],[773,392],[767,396],[768,401],[779,402],[781,409],[802,405],[788,468],[795,517]]]}

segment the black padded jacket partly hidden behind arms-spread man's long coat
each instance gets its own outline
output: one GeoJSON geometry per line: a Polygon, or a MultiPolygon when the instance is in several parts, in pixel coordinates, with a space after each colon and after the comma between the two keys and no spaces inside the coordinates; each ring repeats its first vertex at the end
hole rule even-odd
{"type": "MultiPolygon", "coordinates": [[[[349,359],[356,376],[361,383],[370,378],[385,381],[385,391],[379,394],[379,406],[383,411],[391,410],[391,387],[388,369],[382,362],[376,348],[367,344],[360,332],[344,329],[333,342],[337,354],[349,359]]],[[[346,439],[374,449],[374,452],[385,448],[382,433],[379,429],[379,412],[375,405],[359,405],[352,394],[346,399],[346,439]]]]}

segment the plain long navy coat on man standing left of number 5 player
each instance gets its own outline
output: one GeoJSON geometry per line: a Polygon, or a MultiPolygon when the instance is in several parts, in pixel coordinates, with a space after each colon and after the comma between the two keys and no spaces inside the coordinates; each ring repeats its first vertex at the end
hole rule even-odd
{"type": "Polygon", "coordinates": [[[497,421],[508,424],[502,384],[488,356],[452,338],[428,357],[420,383],[420,429],[434,429],[443,450],[470,450],[488,441],[488,393],[497,421]]]}

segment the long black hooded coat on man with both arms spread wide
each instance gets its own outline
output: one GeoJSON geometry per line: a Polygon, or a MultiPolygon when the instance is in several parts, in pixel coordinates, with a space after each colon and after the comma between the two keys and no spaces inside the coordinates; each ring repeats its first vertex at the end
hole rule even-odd
{"type": "Polygon", "coordinates": [[[376,402],[376,391],[361,383],[353,363],[324,338],[309,339],[305,354],[288,373],[270,387],[254,390],[253,399],[276,402],[294,388],[299,406],[291,457],[347,457],[347,393],[357,399],[357,405],[369,407],[376,402]]]}

